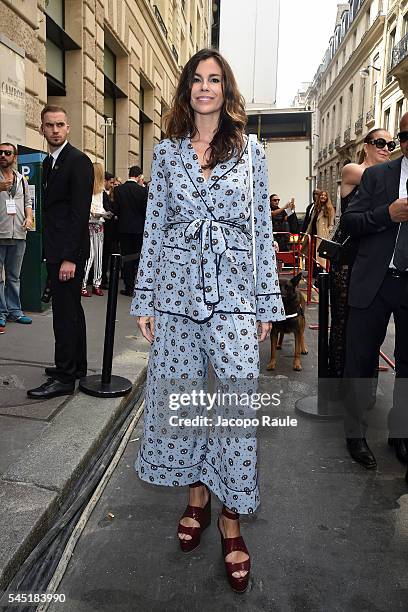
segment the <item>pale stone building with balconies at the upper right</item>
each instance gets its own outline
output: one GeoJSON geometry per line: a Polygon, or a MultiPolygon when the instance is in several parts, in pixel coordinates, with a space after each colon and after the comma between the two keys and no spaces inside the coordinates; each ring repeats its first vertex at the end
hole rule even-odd
{"type": "MultiPolygon", "coordinates": [[[[333,36],[305,101],[314,111],[315,184],[334,200],[341,170],[359,161],[366,134],[383,127],[396,136],[408,110],[407,34],[407,0],[338,5],[333,36]]],[[[398,147],[393,156],[399,154],[398,147]]]]}

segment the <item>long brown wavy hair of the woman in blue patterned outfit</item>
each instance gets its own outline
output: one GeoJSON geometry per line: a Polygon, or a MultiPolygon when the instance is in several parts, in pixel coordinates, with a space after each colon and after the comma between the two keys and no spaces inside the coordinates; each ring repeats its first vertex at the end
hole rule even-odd
{"type": "Polygon", "coordinates": [[[207,168],[214,168],[235,155],[239,156],[244,147],[244,133],[247,123],[244,99],[239,93],[237,82],[228,62],[215,49],[201,49],[184,66],[174,95],[173,104],[165,117],[166,137],[172,140],[190,136],[194,138],[197,127],[194,110],[190,104],[191,88],[197,66],[213,58],[221,68],[224,104],[220,113],[217,132],[210,142],[207,168]]]}

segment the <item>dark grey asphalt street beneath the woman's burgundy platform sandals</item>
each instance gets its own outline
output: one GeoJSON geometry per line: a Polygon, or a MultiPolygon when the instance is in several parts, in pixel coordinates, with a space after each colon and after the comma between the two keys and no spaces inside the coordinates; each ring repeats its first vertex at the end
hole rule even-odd
{"type": "MultiPolygon", "coordinates": [[[[316,307],[309,309],[309,323],[316,307]]],[[[291,430],[261,431],[262,503],[242,520],[252,552],[246,595],[227,585],[213,499],[213,523],[199,549],[179,551],[176,525],[186,490],[149,486],[133,468],[142,422],[99,500],[57,591],[69,612],[194,610],[406,610],[408,487],[405,469],[386,446],[385,419],[393,374],[380,375],[376,428],[370,441],[379,468],[367,472],[345,451],[340,422],[322,423],[294,411],[313,393],[317,332],[308,330],[304,370],[291,371],[286,341],[275,373],[263,371],[262,390],[276,376],[285,407],[299,419],[291,430]]],[[[392,343],[392,328],[385,349],[392,343]]],[[[262,347],[266,364],[269,347],[262,347]]],[[[389,351],[390,352],[390,351],[389,351]]],[[[53,612],[61,606],[51,608],[53,612]]]]}

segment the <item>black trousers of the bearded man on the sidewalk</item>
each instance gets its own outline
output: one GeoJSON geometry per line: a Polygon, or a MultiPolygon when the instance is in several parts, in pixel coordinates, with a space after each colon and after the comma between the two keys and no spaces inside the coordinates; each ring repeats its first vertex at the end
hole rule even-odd
{"type": "Polygon", "coordinates": [[[75,381],[76,372],[86,374],[86,324],[81,304],[81,287],[85,262],[77,264],[75,277],[61,282],[60,264],[47,263],[51,283],[52,321],[55,338],[56,378],[75,381]]]}

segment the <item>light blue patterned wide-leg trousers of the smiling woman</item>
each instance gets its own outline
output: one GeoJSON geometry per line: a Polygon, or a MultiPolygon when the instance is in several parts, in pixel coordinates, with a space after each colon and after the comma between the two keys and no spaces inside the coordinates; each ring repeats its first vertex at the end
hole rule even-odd
{"type": "MultiPolygon", "coordinates": [[[[193,435],[191,428],[172,428],[168,416],[170,381],[198,382],[204,387],[208,364],[217,379],[235,381],[244,393],[256,391],[259,348],[255,317],[214,314],[206,323],[156,314],[144,415],[144,439],[136,470],[142,480],[183,486],[201,480],[230,509],[252,513],[259,504],[257,441],[254,432],[235,430],[218,437],[209,428],[193,435]],[[242,356],[245,355],[245,359],[242,356]]],[[[234,386],[230,387],[230,390],[234,386]]],[[[237,416],[237,406],[229,416],[237,416]]],[[[201,407],[193,409],[202,414],[201,407]]],[[[205,412],[204,408],[204,412],[205,412]]],[[[228,410],[227,410],[228,412],[228,410]]],[[[251,416],[256,416],[251,410],[251,416]]]]}

